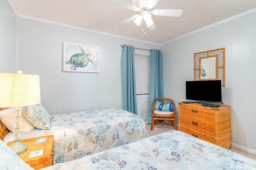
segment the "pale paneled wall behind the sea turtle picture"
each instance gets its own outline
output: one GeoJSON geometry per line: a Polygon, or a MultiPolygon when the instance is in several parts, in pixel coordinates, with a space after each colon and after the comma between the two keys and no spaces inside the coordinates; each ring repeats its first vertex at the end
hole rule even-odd
{"type": "MultiPolygon", "coordinates": [[[[18,68],[40,75],[42,104],[50,114],[122,107],[121,44],[160,49],[157,45],[18,18],[18,68]],[[63,42],[100,47],[100,73],[63,72],[63,42]]],[[[146,121],[148,112],[138,114],[146,121]]]]}

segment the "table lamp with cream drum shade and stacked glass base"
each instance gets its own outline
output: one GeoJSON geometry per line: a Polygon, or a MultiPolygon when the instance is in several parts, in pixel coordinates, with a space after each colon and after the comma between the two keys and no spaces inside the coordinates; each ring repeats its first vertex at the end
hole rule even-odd
{"type": "MultiPolygon", "coordinates": [[[[19,72],[19,71],[18,71],[19,72]]],[[[21,106],[40,104],[39,75],[0,73],[0,107],[16,107],[14,109],[14,143],[10,148],[16,154],[26,152],[28,147],[20,142],[21,106]]]]}

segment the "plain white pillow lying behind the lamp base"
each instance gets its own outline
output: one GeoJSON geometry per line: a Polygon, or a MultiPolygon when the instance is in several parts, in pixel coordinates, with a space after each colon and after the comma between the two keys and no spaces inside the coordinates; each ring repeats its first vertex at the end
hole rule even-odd
{"type": "MultiPolygon", "coordinates": [[[[14,120],[16,119],[16,116],[14,116],[14,109],[15,107],[10,107],[0,111],[0,120],[7,127],[7,129],[12,132],[14,132],[16,129],[14,127],[14,120]]],[[[20,123],[21,132],[29,132],[35,129],[35,127],[31,125],[31,123],[29,123],[23,115],[20,115],[20,123]]]]}

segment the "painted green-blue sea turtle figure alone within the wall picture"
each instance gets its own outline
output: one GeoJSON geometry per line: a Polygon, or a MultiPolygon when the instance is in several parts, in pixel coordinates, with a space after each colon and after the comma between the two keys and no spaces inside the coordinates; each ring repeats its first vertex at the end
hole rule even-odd
{"type": "Polygon", "coordinates": [[[71,64],[71,70],[76,70],[77,67],[86,67],[89,63],[92,63],[95,67],[98,66],[98,62],[95,62],[92,54],[86,54],[84,49],[78,45],[82,53],[74,54],[71,56],[70,60],[65,61],[65,64],[71,64]]]}

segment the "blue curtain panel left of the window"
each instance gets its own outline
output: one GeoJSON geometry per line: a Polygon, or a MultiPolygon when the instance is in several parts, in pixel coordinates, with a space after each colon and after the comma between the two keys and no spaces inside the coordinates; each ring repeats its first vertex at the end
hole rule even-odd
{"type": "Polygon", "coordinates": [[[121,55],[123,109],[136,115],[137,98],[134,68],[134,47],[124,45],[121,55]]]}

